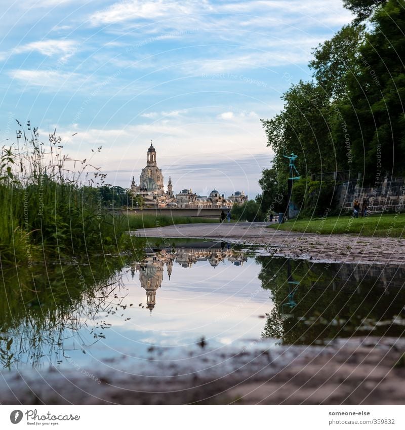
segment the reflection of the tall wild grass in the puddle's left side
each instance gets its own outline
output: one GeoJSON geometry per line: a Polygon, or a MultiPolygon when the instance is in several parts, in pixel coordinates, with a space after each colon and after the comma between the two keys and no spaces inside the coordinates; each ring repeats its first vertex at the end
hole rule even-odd
{"type": "MultiPolygon", "coordinates": [[[[18,363],[37,366],[63,360],[65,345],[122,287],[120,258],[77,259],[47,267],[11,267],[2,271],[0,291],[0,368],[18,363]]],[[[114,303],[118,304],[118,303],[114,303]]],[[[93,341],[103,336],[97,322],[93,341]]],[[[83,345],[73,346],[82,350],[83,345]]]]}

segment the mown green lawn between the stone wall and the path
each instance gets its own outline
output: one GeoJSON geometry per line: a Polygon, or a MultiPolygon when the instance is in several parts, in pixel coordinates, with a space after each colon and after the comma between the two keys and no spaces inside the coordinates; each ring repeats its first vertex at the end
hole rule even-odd
{"type": "Polygon", "coordinates": [[[284,224],[271,224],[271,228],[284,231],[301,231],[317,234],[357,234],[368,237],[405,237],[405,214],[374,214],[366,218],[330,216],[289,220],[284,224]]]}

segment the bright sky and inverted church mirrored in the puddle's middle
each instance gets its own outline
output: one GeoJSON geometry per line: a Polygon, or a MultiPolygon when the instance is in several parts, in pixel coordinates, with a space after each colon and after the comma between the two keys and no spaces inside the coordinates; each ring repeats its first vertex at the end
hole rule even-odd
{"type": "MultiPolygon", "coordinates": [[[[259,272],[254,258],[226,248],[147,253],[121,270],[120,285],[102,309],[73,317],[81,324],[64,330],[63,350],[53,354],[44,343],[42,364],[136,362],[147,358],[151,346],[174,357],[201,338],[210,348],[258,340],[271,308],[259,272]]],[[[29,363],[23,356],[21,363],[29,363]]]]}

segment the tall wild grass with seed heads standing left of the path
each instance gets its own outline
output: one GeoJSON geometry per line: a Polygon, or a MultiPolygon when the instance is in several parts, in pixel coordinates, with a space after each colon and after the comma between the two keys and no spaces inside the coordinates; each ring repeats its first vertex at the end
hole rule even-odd
{"type": "Polygon", "coordinates": [[[106,175],[91,160],[63,155],[56,130],[45,144],[29,122],[25,127],[17,123],[16,142],[1,152],[0,263],[30,266],[44,256],[86,257],[134,248],[125,234],[125,217],[104,211],[97,192],[84,186],[102,186],[106,175]]]}

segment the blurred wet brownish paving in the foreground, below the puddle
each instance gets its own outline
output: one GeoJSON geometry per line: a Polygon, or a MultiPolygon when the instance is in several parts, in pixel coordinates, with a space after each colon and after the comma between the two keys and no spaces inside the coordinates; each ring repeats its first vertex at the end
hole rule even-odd
{"type": "Polygon", "coordinates": [[[405,340],[341,339],[329,346],[277,346],[246,341],[218,351],[196,346],[165,361],[151,348],[144,366],[125,357],[85,369],[4,372],[3,405],[401,405],[405,340]],[[402,358],[401,358],[402,357],[402,358]],[[204,370],[196,372],[195,368],[204,370]],[[119,371],[115,370],[119,369],[119,371]],[[52,389],[50,389],[52,387],[52,389]]]}

